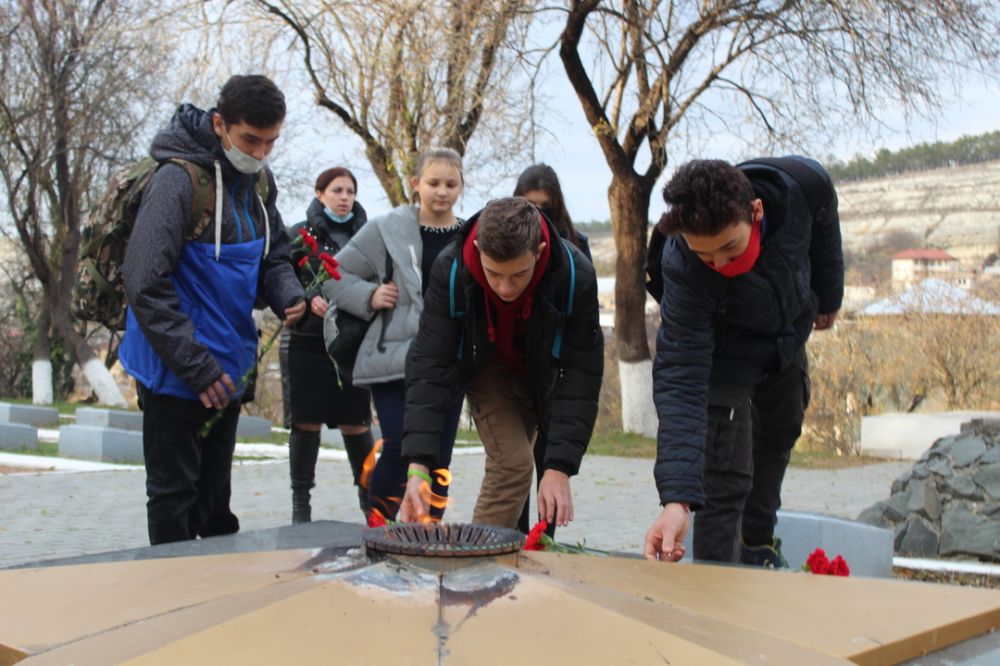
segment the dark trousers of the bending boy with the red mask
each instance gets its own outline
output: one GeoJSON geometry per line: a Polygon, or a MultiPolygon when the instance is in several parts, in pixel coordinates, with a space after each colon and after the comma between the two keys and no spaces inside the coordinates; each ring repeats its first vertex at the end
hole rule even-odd
{"type": "Polygon", "coordinates": [[[694,557],[739,562],[740,539],[770,543],[781,484],[809,405],[805,347],[784,370],[754,386],[713,384],[702,486],[694,517],[694,557]]]}

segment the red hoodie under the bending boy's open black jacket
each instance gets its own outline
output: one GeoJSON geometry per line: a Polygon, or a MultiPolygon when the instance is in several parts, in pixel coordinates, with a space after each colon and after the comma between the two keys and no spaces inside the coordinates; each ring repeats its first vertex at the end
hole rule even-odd
{"type": "Polygon", "coordinates": [[[519,375],[524,374],[524,340],[527,331],[528,318],[531,316],[531,308],[535,303],[535,287],[542,279],[545,268],[549,264],[549,228],[545,220],[539,216],[539,224],[542,225],[542,242],[545,249],[538,256],[535,263],[535,272],[531,276],[528,288],[524,290],[516,300],[507,303],[503,301],[486,281],[486,273],[483,271],[483,262],[479,257],[479,250],[473,243],[479,231],[479,223],[476,222],[469,231],[465,245],[462,247],[462,260],[472,277],[483,288],[485,294],[484,307],[486,310],[487,334],[490,342],[495,345],[496,357],[512,367],[519,375]],[[490,306],[493,307],[490,307],[490,306]],[[496,322],[493,321],[493,310],[496,310],[496,322]]]}

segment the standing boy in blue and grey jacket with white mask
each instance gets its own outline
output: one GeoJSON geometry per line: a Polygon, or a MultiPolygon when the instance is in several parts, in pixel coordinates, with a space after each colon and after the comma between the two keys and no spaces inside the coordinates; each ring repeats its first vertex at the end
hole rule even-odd
{"type": "Polygon", "coordinates": [[[129,306],[119,352],[143,409],[152,544],[206,536],[213,505],[226,494],[247,388],[240,384],[256,360],[254,303],[260,297],[286,325],[305,311],[265,167],[284,117],[273,82],[234,76],[217,108],[182,105],[153,139],[151,154],[163,164],[143,193],[122,266],[129,306]],[[196,238],[188,238],[191,178],[164,163],[175,158],[214,182],[214,224],[196,238]],[[259,179],[267,179],[266,200],[259,179]]]}

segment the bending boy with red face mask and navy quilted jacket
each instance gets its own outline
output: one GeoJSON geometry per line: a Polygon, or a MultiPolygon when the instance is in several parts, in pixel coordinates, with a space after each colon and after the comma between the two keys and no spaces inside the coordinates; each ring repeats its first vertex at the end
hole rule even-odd
{"type": "Polygon", "coordinates": [[[809,401],[805,343],[833,325],[844,288],[836,192],[828,203],[775,168],[681,166],[659,222],[662,320],[653,365],[663,512],[648,559],[676,561],[695,511],[694,558],[785,566],[781,483],[809,401]]]}

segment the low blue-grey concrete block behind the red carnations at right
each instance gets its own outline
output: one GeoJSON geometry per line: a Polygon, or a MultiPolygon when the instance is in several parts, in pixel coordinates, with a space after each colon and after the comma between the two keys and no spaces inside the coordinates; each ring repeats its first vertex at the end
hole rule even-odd
{"type": "MultiPolygon", "coordinates": [[[[831,560],[843,555],[852,576],[892,577],[892,531],[818,513],[779,511],[774,535],[790,569],[798,569],[817,548],[831,560]]],[[[692,533],[684,547],[690,559],[692,533]]]]}

